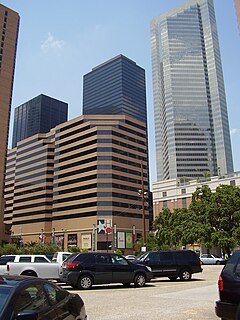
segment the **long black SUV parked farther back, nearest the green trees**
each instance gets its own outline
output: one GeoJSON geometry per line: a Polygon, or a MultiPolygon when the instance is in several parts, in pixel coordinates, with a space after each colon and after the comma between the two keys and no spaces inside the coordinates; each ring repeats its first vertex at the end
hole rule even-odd
{"type": "Polygon", "coordinates": [[[137,263],[151,267],[154,277],[170,280],[190,280],[193,273],[202,272],[201,261],[192,250],[151,251],[140,255],[137,263]]]}

